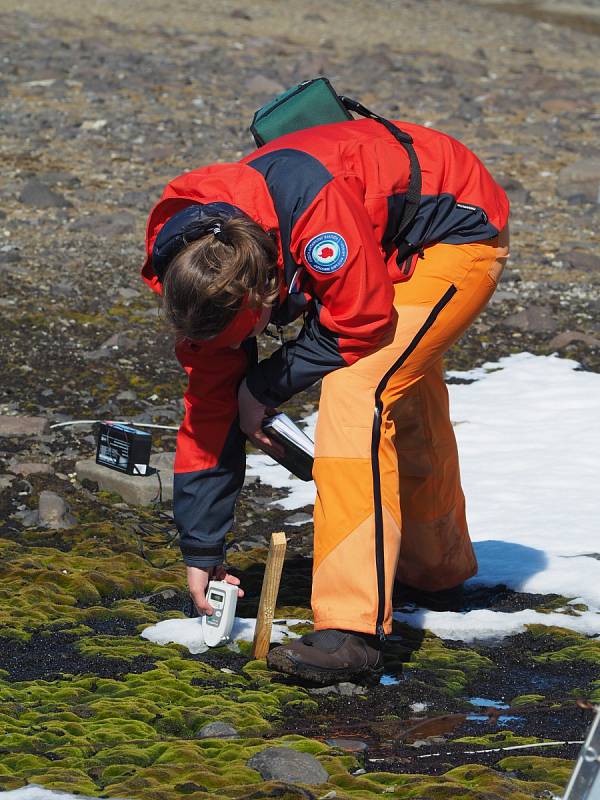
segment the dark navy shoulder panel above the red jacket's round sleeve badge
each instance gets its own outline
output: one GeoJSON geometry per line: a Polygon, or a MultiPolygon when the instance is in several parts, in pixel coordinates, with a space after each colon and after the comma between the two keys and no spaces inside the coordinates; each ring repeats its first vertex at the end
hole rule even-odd
{"type": "Polygon", "coordinates": [[[273,198],[289,286],[298,269],[290,253],[294,225],[333,175],[314,156],[291,148],[265,153],[248,161],[248,166],[260,172],[273,198]]]}

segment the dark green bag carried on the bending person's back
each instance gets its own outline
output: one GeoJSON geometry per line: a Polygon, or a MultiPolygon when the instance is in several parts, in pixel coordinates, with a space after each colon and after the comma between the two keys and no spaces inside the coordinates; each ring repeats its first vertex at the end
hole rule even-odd
{"type": "Polygon", "coordinates": [[[258,147],[285,133],[352,119],[327,78],[313,78],[278,95],[254,115],[250,130],[258,147]]]}

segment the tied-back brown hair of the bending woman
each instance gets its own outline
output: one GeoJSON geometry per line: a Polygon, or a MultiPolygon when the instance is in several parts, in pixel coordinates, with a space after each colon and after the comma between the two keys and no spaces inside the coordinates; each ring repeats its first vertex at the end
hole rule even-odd
{"type": "Polygon", "coordinates": [[[248,217],[207,221],[214,232],[169,264],[163,309],[178,338],[211,339],[242,305],[257,310],[279,294],[277,243],[248,217]]]}

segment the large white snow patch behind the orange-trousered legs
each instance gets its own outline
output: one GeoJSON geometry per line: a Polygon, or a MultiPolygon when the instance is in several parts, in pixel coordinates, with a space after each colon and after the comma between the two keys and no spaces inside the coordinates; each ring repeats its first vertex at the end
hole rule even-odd
{"type": "MultiPolygon", "coordinates": [[[[479,561],[470,584],[562,594],[589,607],[578,616],[396,614],[448,638],[504,636],[538,622],[600,634],[598,465],[600,375],[577,362],[520,353],[449,376],[469,529],[479,561]]],[[[307,420],[314,435],[316,414],[307,420]]],[[[289,489],[279,505],[314,503],[314,484],[289,475],[267,456],[250,456],[249,475],[289,489]]]]}

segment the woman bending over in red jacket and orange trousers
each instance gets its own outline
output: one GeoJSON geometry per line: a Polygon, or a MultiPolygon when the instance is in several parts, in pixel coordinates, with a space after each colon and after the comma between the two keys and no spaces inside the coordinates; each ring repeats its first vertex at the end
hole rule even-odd
{"type": "MultiPolygon", "coordinates": [[[[227,573],[245,441],[322,379],[315,435],[314,632],[272,669],[328,682],[376,675],[394,582],[436,592],[477,570],[442,357],[490,299],[508,201],[455,139],[408,122],[422,190],[399,236],[405,149],[373,119],[288,134],[165,188],[143,277],[162,293],[188,376],[174,515],[200,612],[227,573]],[[257,360],[269,322],[300,333],[257,360]]],[[[241,592],[241,589],[240,589],[241,592]]]]}

